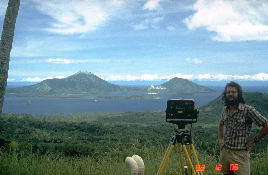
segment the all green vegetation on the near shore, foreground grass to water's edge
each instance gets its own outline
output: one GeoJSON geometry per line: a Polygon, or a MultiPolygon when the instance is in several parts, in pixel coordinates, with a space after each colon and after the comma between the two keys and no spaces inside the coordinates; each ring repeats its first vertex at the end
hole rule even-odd
{"type": "MultiPolygon", "coordinates": [[[[245,93],[247,103],[268,114],[268,94],[245,93]]],[[[206,174],[218,163],[217,125],[220,97],[200,107],[192,139],[206,174]]],[[[190,127],[190,125],[186,125],[190,127]]],[[[142,157],[146,174],[157,174],[176,125],[165,122],[165,111],[77,113],[61,115],[2,114],[0,174],[130,174],[125,158],[142,157]]],[[[252,136],[260,127],[253,125],[252,136]]],[[[266,136],[254,145],[251,173],[268,173],[266,136]]],[[[184,157],[185,159],[185,157],[184,157]]],[[[184,162],[187,162],[186,159],[184,162]]],[[[195,163],[194,163],[195,165],[195,163]]],[[[163,174],[181,174],[177,145],[163,174]]]]}

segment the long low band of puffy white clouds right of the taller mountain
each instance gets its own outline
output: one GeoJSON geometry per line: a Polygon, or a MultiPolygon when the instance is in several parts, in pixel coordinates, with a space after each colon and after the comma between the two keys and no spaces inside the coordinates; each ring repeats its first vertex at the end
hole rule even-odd
{"type": "Polygon", "coordinates": [[[180,73],[172,74],[168,76],[158,76],[144,74],[142,76],[121,76],[121,75],[111,75],[105,79],[106,81],[161,81],[161,80],[170,80],[174,77],[184,78],[188,80],[196,80],[196,81],[268,81],[268,74],[266,73],[258,73],[254,75],[224,75],[224,74],[217,74],[217,75],[209,75],[209,74],[199,74],[197,76],[194,75],[183,75],[180,73]]]}

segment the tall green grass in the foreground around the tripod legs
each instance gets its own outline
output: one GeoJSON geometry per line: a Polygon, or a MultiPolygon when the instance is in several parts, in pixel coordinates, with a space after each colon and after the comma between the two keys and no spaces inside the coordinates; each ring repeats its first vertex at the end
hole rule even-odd
{"type": "MultiPolygon", "coordinates": [[[[117,145],[120,147],[120,145],[117,145]]],[[[113,147],[110,152],[96,153],[91,156],[65,157],[47,153],[40,155],[32,153],[24,155],[18,151],[0,150],[0,174],[1,175],[115,175],[131,174],[130,166],[125,163],[126,156],[137,154],[142,157],[145,164],[145,174],[155,175],[158,172],[166,148],[135,146],[128,149],[113,147]]],[[[203,174],[218,175],[215,165],[218,164],[218,156],[208,155],[205,151],[196,150],[199,163],[205,165],[203,174]]],[[[193,158],[194,159],[194,158],[193,158]]],[[[268,148],[265,152],[251,155],[251,174],[267,175],[268,148]]],[[[183,156],[183,162],[187,165],[187,159],[183,156]]],[[[193,160],[195,166],[195,161],[193,160]]],[[[180,160],[177,146],[174,147],[165,166],[163,175],[181,175],[180,160]]]]}

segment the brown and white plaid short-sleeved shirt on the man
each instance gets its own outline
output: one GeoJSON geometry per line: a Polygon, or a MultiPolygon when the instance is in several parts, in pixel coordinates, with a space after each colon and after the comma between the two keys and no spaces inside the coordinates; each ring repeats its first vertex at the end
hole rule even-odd
{"type": "Polygon", "coordinates": [[[252,122],[262,126],[267,119],[259,114],[254,107],[240,103],[232,117],[226,107],[222,110],[220,123],[225,126],[224,147],[243,150],[250,139],[252,122]]]}

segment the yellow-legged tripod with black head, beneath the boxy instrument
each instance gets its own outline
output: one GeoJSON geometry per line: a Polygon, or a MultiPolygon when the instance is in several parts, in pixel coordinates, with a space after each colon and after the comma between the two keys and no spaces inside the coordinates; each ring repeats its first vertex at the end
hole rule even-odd
{"type": "MultiPolygon", "coordinates": [[[[170,140],[168,149],[167,149],[166,154],[165,154],[165,156],[163,158],[163,161],[162,161],[162,163],[161,163],[161,165],[159,167],[157,175],[162,174],[162,172],[163,172],[163,170],[164,170],[164,168],[166,166],[166,163],[168,162],[168,158],[169,158],[169,156],[170,156],[170,154],[171,154],[176,142],[178,144],[178,152],[179,152],[179,155],[180,155],[180,163],[181,163],[181,172],[183,173],[183,175],[184,175],[184,168],[183,168],[183,158],[182,158],[182,153],[181,153],[181,145],[182,145],[183,150],[184,150],[184,152],[185,152],[185,154],[187,156],[188,166],[191,167],[193,174],[194,175],[203,175],[202,171],[200,171],[200,172],[195,171],[195,169],[193,167],[193,163],[192,163],[191,158],[189,156],[190,147],[191,147],[192,148],[192,153],[195,156],[195,161],[199,165],[198,158],[197,158],[196,152],[195,152],[195,148],[193,147],[191,134],[187,133],[187,132],[189,132],[189,129],[188,128],[178,129],[178,127],[176,127],[175,130],[176,130],[176,132],[173,133],[173,137],[170,140]],[[180,143],[181,143],[181,145],[180,145],[180,143]],[[185,145],[188,145],[188,150],[187,150],[185,145]]],[[[191,171],[189,171],[188,174],[190,175],[191,171]]]]}

